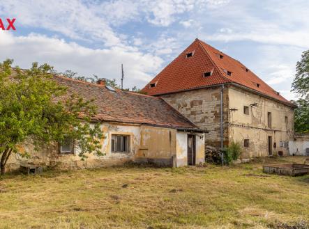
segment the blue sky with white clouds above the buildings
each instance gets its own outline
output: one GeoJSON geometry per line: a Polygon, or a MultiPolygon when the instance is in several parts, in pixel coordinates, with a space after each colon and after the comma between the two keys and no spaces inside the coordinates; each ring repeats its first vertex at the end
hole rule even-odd
{"type": "Polygon", "coordinates": [[[0,61],[48,63],[142,88],[195,38],[236,58],[288,100],[309,49],[308,0],[0,0],[0,61]]]}

